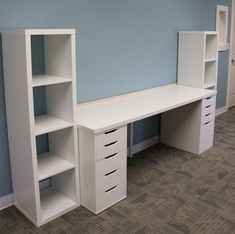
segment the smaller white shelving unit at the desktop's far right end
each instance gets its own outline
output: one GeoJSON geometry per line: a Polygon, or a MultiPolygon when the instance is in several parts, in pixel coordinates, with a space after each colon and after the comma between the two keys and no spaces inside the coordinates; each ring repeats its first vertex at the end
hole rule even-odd
{"type": "Polygon", "coordinates": [[[217,32],[179,32],[178,84],[216,90],[217,32]]]}

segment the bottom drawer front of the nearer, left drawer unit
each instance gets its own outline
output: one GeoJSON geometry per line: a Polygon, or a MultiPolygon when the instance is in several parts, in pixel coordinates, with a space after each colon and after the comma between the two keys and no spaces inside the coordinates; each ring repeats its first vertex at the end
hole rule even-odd
{"type": "Polygon", "coordinates": [[[97,180],[96,213],[126,197],[126,167],[97,180]]]}

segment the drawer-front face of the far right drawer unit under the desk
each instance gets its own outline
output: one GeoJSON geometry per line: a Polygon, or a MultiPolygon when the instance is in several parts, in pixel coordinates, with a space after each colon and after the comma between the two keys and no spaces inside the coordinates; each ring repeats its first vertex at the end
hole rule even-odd
{"type": "Polygon", "coordinates": [[[202,100],[202,118],[200,134],[200,153],[213,146],[215,126],[215,103],[216,96],[202,100]]]}

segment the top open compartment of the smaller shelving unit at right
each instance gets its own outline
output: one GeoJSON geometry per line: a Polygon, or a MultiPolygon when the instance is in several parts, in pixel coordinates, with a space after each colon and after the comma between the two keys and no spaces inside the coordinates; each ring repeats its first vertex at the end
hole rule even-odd
{"type": "Polygon", "coordinates": [[[206,34],[206,55],[205,60],[217,60],[217,34],[206,34]]]}

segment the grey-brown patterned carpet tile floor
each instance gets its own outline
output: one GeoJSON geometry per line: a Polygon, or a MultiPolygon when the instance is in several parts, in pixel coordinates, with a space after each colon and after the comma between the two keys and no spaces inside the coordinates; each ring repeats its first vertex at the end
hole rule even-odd
{"type": "Polygon", "coordinates": [[[10,207],[0,233],[235,233],[235,109],[201,156],[157,145],[129,160],[127,199],[100,215],[79,207],[36,228],[10,207]]]}

